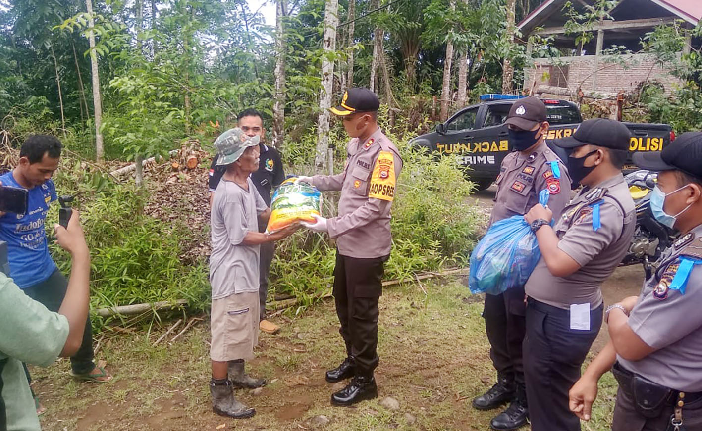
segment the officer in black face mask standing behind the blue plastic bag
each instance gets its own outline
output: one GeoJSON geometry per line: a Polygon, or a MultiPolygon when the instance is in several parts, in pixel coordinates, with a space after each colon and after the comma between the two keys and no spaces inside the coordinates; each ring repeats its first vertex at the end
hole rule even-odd
{"type": "MultiPolygon", "coordinates": [[[[505,123],[514,151],[503,159],[496,179],[490,224],[523,215],[538,203],[538,193],[543,189],[550,192],[549,207],[559,214],[568,202],[571,182],[561,160],[545,144],[549,127],[545,105],[536,97],[518,100],[505,123]]],[[[483,317],[498,381],[473,399],[472,405],[489,410],[511,402],[508,409],[491,420],[495,430],[516,430],[527,423],[529,415],[522,367],[524,308],[523,286],[512,287],[500,295],[485,295],[483,317]]]]}

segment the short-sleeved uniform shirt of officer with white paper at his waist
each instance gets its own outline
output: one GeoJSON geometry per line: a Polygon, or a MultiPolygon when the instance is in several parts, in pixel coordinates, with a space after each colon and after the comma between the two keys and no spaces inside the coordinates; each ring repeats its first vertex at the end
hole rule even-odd
{"type": "Polygon", "coordinates": [[[600,285],[629,249],[635,222],[634,201],[623,175],[581,191],[565,207],[553,228],[559,238],[558,248],[581,268],[567,277],[555,277],[542,257],[527,280],[525,292],[557,308],[569,309],[573,304],[584,303],[589,303],[590,309],[599,307],[600,285]]]}

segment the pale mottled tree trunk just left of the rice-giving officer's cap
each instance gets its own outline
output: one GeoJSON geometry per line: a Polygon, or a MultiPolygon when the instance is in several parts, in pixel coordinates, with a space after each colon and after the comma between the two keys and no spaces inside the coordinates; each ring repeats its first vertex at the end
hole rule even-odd
{"type": "MultiPolygon", "coordinates": [[[[326,0],[324,8],[324,41],[322,46],[326,54],[336,50],[336,26],[338,25],[338,0],[326,0]]],[[[331,91],[334,81],[334,62],[328,57],[322,59],[322,89],[319,91],[319,118],[317,120],[317,156],[314,158],[314,170],[317,173],[331,166],[329,149],[329,108],[331,108],[331,91]]],[[[329,169],[328,169],[329,170],[329,169]]],[[[331,175],[332,172],[329,172],[331,175]]]]}

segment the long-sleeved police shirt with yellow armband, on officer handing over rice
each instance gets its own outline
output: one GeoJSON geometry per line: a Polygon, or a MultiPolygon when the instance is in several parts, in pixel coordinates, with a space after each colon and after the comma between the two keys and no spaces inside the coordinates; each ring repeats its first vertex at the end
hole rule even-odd
{"type": "Polygon", "coordinates": [[[339,215],[327,222],[340,254],[360,259],[390,254],[390,207],[401,170],[397,147],[378,129],[364,142],[349,141],[343,172],[312,177],[321,191],[341,191],[339,215]]]}

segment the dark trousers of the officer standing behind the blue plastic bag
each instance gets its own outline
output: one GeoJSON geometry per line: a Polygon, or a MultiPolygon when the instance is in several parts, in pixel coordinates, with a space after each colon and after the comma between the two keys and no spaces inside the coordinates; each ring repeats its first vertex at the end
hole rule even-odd
{"type": "Polygon", "coordinates": [[[490,358],[498,376],[514,378],[524,385],[522,342],[527,330],[524,287],[513,287],[500,295],[485,295],[485,331],[490,358]]]}

